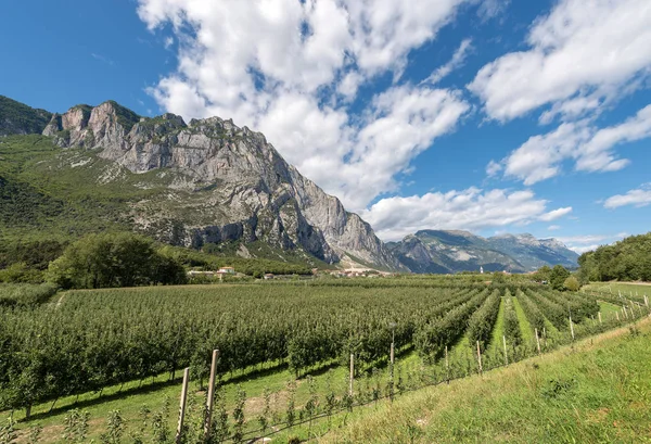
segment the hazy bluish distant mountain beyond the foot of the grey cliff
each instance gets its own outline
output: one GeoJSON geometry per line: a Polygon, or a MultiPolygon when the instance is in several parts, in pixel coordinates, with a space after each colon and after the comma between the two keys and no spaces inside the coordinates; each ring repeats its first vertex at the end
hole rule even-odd
{"type": "Polygon", "coordinates": [[[532,234],[482,238],[468,231],[421,230],[388,249],[414,272],[524,272],[544,265],[576,267],[578,254],[556,239],[532,234]]]}

